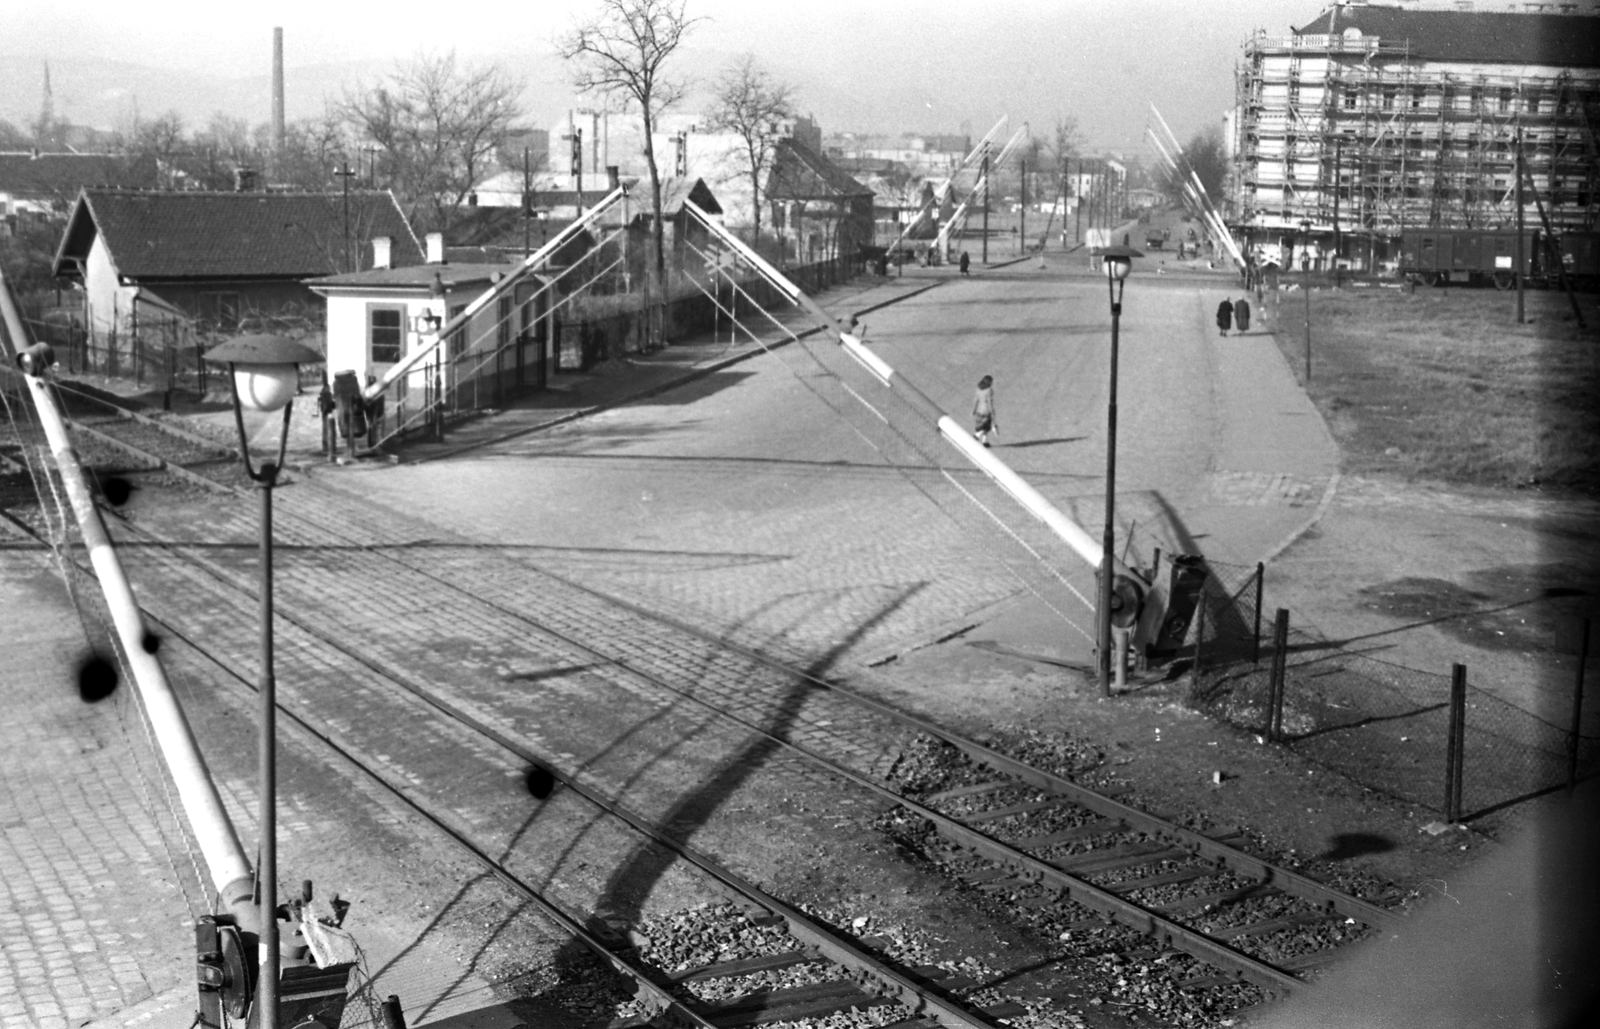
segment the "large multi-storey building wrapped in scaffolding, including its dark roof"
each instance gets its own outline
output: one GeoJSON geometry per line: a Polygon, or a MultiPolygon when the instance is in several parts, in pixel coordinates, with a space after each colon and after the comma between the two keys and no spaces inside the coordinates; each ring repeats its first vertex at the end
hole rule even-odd
{"type": "Polygon", "coordinates": [[[1600,6],[1334,3],[1245,43],[1229,226],[1258,262],[1392,269],[1408,229],[1595,227],[1600,6]]]}

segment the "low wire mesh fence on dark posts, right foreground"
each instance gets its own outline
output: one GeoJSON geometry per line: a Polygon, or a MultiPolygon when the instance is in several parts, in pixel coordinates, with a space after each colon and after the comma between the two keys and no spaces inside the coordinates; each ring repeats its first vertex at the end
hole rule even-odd
{"type": "MultiPolygon", "coordinates": [[[[1213,563],[1190,631],[1189,701],[1370,789],[1451,819],[1582,778],[1600,736],[1461,682],[1262,624],[1259,570],[1213,563]]],[[[1458,666],[1459,667],[1459,666],[1458,666]]],[[[1573,688],[1581,688],[1574,671],[1573,688]]]]}

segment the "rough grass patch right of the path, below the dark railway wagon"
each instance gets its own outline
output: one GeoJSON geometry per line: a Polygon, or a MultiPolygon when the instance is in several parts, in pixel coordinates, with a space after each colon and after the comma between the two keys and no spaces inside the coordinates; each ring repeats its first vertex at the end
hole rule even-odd
{"type": "MultiPolygon", "coordinates": [[[[1304,382],[1306,298],[1280,293],[1277,341],[1304,382]]],[[[1310,397],[1344,470],[1600,493],[1600,304],[1494,290],[1314,290],[1310,397]]],[[[1267,299],[1269,306],[1274,302],[1267,299]]]]}

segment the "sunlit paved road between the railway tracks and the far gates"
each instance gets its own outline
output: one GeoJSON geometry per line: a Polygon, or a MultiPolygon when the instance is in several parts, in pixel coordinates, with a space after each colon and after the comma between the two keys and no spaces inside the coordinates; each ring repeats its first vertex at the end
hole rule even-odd
{"type": "MultiPolygon", "coordinates": [[[[1315,509],[1336,451],[1272,339],[1218,336],[1216,277],[1136,275],[1125,298],[1118,510],[1142,546],[1253,563],[1315,509]]],[[[1102,519],[1106,283],[1072,259],[957,278],[866,318],[869,342],[960,421],[994,374],[997,453],[1093,535],[1102,519]]],[[[1088,640],[1019,595],[947,509],[883,464],[798,347],[438,464],[326,477],[630,595],[811,650],[864,624],[872,659],[974,611],[1088,640]],[[1011,602],[1006,605],[1006,602],[1011,602]],[[995,611],[1000,605],[1006,615],[995,611]]],[[[859,408],[856,408],[859,410],[859,408]]],[[[1066,563],[1075,563],[1064,557],[1066,563]]],[[[1074,568],[1085,586],[1082,567],[1074,568]]],[[[1088,626],[1082,605],[1067,611],[1088,626]]]]}

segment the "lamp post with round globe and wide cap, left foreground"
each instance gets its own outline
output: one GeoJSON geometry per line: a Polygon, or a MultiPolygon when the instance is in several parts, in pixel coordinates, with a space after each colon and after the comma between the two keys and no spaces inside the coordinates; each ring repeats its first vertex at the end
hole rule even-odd
{"type": "Polygon", "coordinates": [[[259,955],[256,979],[256,1018],[259,1029],[278,1026],[278,847],[277,847],[277,680],[272,675],[272,488],[283,467],[290,438],[290,410],[299,392],[299,365],[322,362],[322,354],[286,336],[238,336],[211,347],[205,358],[227,365],[229,389],[234,395],[234,424],[238,427],[238,458],[245,474],[261,490],[261,858],[256,885],[261,896],[259,955]],[[283,411],[275,461],[254,467],[250,462],[250,437],[245,434],[245,408],[283,411]]]}

